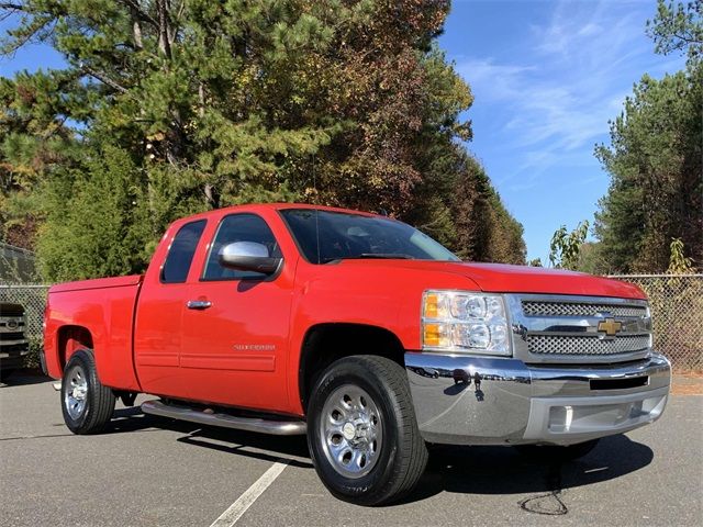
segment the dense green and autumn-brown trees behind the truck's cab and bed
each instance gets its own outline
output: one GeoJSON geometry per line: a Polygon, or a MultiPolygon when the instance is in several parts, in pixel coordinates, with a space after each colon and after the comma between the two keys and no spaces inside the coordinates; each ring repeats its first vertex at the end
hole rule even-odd
{"type": "Polygon", "coordinates": [[[459,146],[473,99],[436,45],[448,1],[2,8],[4,54],[41,42],[67,63],[0,80],[1,234],[33,245],[41,225],[46,279],[138,272],[174,218],[255,201],[387,211],[464,256],[524,260],[459,146]]]}

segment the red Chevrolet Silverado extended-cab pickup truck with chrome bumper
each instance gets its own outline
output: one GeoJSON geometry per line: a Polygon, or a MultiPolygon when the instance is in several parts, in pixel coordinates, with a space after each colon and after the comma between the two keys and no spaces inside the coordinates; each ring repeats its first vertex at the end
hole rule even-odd
{"type": "Polygon", "coordinates": [[[306,434],[324,484],[366,505],[413,489],[427,442],[576,458],[658,418],[670,384],[637,287],[462,262],[322,206],[179,220],[144,276],[54,285],[45,323],[74,433],[149,393],[145,413],[306,434]]]}

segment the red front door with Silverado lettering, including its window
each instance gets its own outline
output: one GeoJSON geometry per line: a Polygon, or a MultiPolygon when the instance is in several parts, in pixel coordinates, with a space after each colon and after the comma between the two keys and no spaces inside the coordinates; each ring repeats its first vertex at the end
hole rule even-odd
{"type": "Polygon", "coordinates": [[[294,261],[283,260],[269,277],[226,269],[219,262],[219,251],[234,242],[255,242],[266,246],[269,256],[281,257],[261,216],[221,217],[202,272],[189,284],[180,367],[196,401],[284,412],[294,261]]]}

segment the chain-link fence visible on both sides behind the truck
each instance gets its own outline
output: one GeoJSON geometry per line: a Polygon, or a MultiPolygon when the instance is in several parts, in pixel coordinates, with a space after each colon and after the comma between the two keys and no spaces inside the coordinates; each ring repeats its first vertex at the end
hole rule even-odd
{"type": "MultiPolygon", "coordinates": [[[[678,371],[703,370],[703,274],[627,274],[617,280],[639,285],[654,319],[655,349],[678,371]]],[[[2,284],[0,301],[24,305],[27,336],[33,348],[42,345],[42,319],[48,285],[2,284]]]]}

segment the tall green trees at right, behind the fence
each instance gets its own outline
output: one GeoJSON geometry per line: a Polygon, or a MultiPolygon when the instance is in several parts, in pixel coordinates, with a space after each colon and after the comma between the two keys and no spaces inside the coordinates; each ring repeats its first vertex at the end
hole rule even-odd
{"type": "Polygon", "coordinates": [[[672,239],[703,261],[703,31],[701,2],[666,4],[649,25],[657,51],[688,53],[685,70],[645,75],[595,155],[611,175],[595,234],[610,272],[663,272],[672,239]]]}

